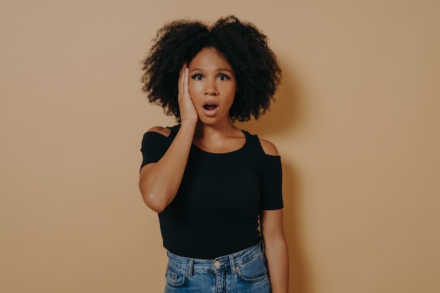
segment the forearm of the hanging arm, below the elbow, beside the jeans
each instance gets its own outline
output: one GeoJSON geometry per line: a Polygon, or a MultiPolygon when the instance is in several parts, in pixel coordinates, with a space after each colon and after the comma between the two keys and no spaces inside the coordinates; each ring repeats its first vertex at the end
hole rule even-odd
{"type": "Polygon", "coordinates": [[[272,293],[289,291],[289,257],[285,239],[266,245],[266,260],[272,293]]]}

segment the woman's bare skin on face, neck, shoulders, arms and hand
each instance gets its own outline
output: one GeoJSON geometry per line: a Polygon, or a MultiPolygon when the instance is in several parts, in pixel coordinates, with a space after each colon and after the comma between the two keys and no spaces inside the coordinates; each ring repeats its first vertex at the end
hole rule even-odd
{"type": "MultiPolygon", "coordinates": [[[[183,65],[178,96],[181,128],[162,159],[145,165],[139,177],[143,201],[150,209],[160,213],[174,200],[192,143],[202,150],[216,153],[238,150],[245,144],[244,134],[228,117],[235,91],[235,72],[228,60],[214,48],[202,49],[188,65],[183,65]],[[217,109],[207,112],[206,103],[214,103],[217,109]]],[[[169,135],[169,129],[160,126],[150,131],[169,135]]],[[[278,155],[273,143],[263,139],[260,143],[267,155],[278,155]]],[[[286,293],[289,270],[283,209],[263,211],[261,234],[272,293],[286,293]]]]}

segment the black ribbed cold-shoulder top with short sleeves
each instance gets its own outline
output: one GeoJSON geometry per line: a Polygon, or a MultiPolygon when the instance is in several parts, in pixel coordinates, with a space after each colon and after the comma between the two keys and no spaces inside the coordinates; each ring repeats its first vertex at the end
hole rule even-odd
{"type": "MultiPolygon", "coordinates": [[[[158,162],[171,145],[171,134],[144,134],[142,167],[158,162]]],[[[243,131],[245,145],[227,153],[191,146],[176,197],[159,214],[164,247],[179,256],[214,259],[256,245],[259,214],[281,209],[280,156],[264,153],[259,138],[243,131]]]]}

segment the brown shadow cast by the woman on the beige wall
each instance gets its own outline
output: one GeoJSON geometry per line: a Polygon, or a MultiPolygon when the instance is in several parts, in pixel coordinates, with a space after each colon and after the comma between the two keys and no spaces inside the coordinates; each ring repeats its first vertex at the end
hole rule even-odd
{"type": "MultiPolygon", "coordinates": [[[[283,140],[295,133],[295,128],[302,118],[300,94],[292,72],[283,68],[283,79],[276,93],[276,101],[271,110],[258,121],[237,122],[240,129],[260,138],[283,140]]],[[[283,154],[281,154],[283,156],[283,154]]],[[[283,196],[284,196],[284,226],[290,257],[290,286],[291,293],[310,292],[306,270],[306,260],[302,251],[301,227],[298,216],[299,180],[298,172],[290,162],[283,160],[283,196]]]]}

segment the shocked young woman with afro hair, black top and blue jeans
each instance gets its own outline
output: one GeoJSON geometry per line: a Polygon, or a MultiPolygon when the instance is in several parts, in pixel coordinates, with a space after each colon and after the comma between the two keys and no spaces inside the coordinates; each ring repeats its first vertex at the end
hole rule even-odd
{"type": "Polygon", "coordinates": [[[266,36],[234,16],[170,22],[143,60],[143,91],[179,124],[143,136],[139,189],[159,214],[171,292],[287,292],[280,156],[234,126],[280,82],[266,36]]]}

